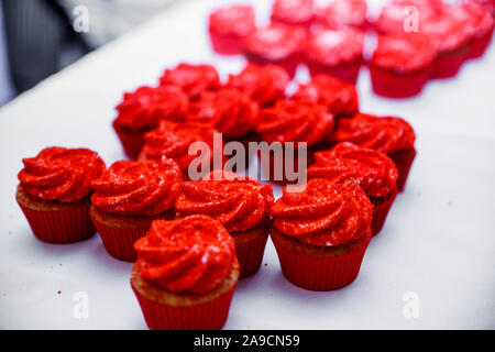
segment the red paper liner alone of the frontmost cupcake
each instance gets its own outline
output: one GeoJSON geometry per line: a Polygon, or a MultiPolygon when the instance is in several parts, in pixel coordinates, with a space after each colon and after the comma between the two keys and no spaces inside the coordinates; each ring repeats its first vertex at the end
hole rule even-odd
{"type": "Polygon", "coordinates": [[[219,330],[229,316],[237,284],[213,300],[193,306],[163,305],[141,295],[131,283],[144,320],[151,330],[219,330]]]}

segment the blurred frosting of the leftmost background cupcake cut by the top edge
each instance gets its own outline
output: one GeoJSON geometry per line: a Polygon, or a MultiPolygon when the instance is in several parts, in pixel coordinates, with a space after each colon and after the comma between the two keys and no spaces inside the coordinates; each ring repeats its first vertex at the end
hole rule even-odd
{"type": "Polygon", "coordinates": [[[275,0],[272,7],[272,20],[290,24],[307,23],[314,15],[314,0],[275,0]]]}

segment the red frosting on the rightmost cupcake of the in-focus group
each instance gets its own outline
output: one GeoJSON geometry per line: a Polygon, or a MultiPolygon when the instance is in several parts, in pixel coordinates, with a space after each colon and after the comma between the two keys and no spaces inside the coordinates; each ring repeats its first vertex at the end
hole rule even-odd
{"type": "Polygon", "coordinates": [[[388,154],[413,148],[416,135],[410,124],[400,118],[356,113],[339,122],[333,140],[388,154]]]}

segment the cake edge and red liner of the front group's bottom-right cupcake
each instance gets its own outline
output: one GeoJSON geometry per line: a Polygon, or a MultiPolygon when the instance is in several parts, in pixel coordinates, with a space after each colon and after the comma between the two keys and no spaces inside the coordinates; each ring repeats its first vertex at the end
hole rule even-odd
{"type": "Polygon", "coordinates": [[[351,284],[358,276],[370,237],[349,244],[318,248],[300,243],[272,228],[284,276],[309,290],[332,290],[351,284]]]}

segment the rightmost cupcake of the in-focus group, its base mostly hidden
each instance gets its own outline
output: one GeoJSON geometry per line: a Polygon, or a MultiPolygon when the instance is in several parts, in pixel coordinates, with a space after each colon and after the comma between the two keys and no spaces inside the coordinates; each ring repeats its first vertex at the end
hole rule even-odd
{"type": "Polygon", "coordinates": [[[399,191],[404,189],[416,157],[416,135],[407,121],[396,117],[378,118],[356,113],[352,119],[343,119],[339,122],[333,140],[337,143],[352,142],[387,154],[399,173],[397,188],[399,191]]]}

